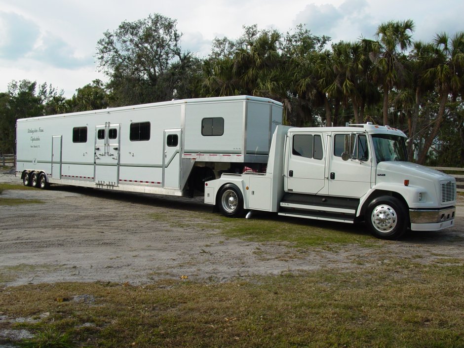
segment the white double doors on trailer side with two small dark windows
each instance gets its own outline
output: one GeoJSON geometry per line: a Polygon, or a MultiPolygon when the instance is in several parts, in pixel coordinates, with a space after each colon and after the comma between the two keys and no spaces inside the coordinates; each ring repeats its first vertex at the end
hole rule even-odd
{"type": "Polygon", "coordinates": [[[119,183],[120,124],[106,122],[95,126],[95,183],[117,186],[119,183]]]}

